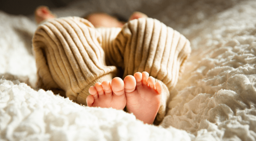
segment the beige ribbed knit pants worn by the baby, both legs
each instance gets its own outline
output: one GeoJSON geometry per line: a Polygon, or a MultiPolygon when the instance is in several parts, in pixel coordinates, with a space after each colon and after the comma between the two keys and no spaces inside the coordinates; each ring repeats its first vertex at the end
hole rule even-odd
{"type": "Polygon", "coordinates": [[[38,27],[32,42],[39,87],[64,90],[79,104],[86,105],[96,82],[147,71],[164,88],[158,121],[191,52],[184,36],[152,18],[132,20],[122,29],[95,29],[78,17],[52,19],[38,27]]]}

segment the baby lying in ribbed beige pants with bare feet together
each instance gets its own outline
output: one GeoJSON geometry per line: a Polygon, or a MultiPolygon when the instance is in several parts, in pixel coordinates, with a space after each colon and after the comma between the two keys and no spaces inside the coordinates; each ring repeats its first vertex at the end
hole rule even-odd
{"type": "Polygon", "coordinates": [[[32,40],[39,87],[64,90],[89,107],[126,107],[144,123],[161,121],[191,49],[177,31],[146,17],[135,12],[126,24],[107,14],[54,19],[37,8],[37,23],[52,19],[32,40]],[[117,28],[95,28],[111,26],[117,28]]]}

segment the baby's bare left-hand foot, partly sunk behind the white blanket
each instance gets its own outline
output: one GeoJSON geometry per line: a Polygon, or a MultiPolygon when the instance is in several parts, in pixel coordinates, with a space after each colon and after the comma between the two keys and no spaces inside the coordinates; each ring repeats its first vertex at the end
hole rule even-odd
{"type": "Polygon", "coordinates": [[[124,94],[124,81],[115,77],[111,84],[109,81],[97,82],[89,88],[89,95],[86,103],[89,107],[115,108],[123,110],[126,105],[124,94]]]}

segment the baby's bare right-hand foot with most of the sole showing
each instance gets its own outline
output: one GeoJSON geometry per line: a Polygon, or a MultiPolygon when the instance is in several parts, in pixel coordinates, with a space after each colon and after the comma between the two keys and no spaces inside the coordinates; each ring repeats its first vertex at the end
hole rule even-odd
{"type": "Polygon", "coordinates": [[[161,105],[163,86],[155,83],[147,72],[135,73],[124,78],[126,107],[137,119],[152,124],[161,105]]]}

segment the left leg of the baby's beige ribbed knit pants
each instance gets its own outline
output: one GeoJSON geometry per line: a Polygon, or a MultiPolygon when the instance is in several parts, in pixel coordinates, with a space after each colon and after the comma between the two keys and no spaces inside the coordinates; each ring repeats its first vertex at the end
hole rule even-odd
{"type": "Polygon", "coordinates": [[[111,81],[116,67],[106,66],[102,38],[79,17],[53,19],[40,25],[32,44],[39,78],[45,88],[60,88],[71,100],[86,105],[89,87],[111,81]]]}

